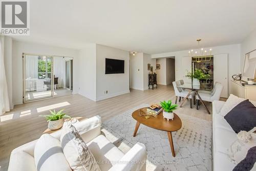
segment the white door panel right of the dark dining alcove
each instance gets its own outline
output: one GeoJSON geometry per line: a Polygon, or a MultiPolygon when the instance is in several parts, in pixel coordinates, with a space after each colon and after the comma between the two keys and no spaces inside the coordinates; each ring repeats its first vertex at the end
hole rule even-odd
{"type": "Polygon", "coordinates": [[[228,97],[228,54],[214,55],[214,82],[223,86],[221,97],[228,97]]]}

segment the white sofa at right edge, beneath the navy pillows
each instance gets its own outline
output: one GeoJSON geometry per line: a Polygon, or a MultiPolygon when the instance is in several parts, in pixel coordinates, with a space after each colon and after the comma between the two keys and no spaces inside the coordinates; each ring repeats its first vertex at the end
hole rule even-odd
{"type": "Polygon", "coordinates": [[[224,117],[220,115],[224,104],[225,101],[212,102],[212,166],[216,171],[231,171],[236,166],[228,156],[228,148],[238,138],[224,117]]]}

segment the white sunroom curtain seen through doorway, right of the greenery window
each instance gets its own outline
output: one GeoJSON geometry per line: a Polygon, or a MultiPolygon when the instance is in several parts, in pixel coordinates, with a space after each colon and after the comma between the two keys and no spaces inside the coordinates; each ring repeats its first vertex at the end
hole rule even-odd
{"type": "Polygon", "coordinates": [[[58,87],[62,88],[63,87],[63,77],[65,76],[65,60],[63,57],[58,57],[58,56],[54,56],[54,75],[55,78],[58,77],[58,87]]]}

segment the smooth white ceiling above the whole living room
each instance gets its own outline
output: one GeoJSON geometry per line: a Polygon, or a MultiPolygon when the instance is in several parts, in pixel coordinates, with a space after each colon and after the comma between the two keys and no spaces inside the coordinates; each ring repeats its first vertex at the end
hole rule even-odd
{"type": "Polygon", "coordinates": [[[81,49],[87,42],[149,54],[240,43],[256,29],[255,0],[33,0],[30,36],[81,49]]]}

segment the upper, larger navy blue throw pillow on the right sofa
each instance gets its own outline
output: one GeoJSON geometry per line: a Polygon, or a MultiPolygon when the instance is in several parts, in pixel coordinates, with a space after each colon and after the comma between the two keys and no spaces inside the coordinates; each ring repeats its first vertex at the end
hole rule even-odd
{"type": "Polygon", "coordinates": [[[256,126],[256,107],[244,100],[224,116],[234,132],[250,131],[256,126]]]}

